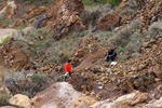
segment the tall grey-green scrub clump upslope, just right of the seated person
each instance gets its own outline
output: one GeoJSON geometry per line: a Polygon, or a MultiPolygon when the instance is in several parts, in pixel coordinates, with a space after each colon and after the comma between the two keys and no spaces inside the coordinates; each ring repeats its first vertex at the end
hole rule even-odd
{"type": "Polygon", "coordinates": [[[114,44],[123,51],[136,52],[141,45],[143,35],[138,32],[140,21],[136,19],[113,36],[114,44]],[[136,49],[132,49],[132,48],[136,49]]]}

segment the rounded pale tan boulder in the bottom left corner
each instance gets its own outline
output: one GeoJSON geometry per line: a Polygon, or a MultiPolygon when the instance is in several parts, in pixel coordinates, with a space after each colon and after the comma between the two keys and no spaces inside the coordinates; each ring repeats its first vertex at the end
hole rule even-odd
{"type": "Polygon", "coordinates": [[[31,107],[31,103],[28,96],[26,95],[22,95],[22,94],[17,94],[15,96],[13,96],[10,99],[10,104],[17,106],[17,107],[23,107],[23,108],[30,108],[31,107]]]}

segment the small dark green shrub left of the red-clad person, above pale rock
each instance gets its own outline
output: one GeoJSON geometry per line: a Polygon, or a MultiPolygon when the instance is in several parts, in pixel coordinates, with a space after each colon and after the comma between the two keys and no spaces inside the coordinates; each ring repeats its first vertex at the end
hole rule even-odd
{"type": "Polygon", "coordinates": [[[33,73],[31,80],[41,86],[48,82],[48,78],[41,73],[33,73]]]}

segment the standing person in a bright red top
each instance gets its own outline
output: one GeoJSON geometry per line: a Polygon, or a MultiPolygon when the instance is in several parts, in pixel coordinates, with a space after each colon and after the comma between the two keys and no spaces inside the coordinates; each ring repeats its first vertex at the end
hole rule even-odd
{"type": "Polygon", "coordinates": [[[68,63],[66,63],[65,65],[65,81],[67,81],[68,79],[68,75],[69,77],[71,77],[71,60],[68,60],[68,63]]]}

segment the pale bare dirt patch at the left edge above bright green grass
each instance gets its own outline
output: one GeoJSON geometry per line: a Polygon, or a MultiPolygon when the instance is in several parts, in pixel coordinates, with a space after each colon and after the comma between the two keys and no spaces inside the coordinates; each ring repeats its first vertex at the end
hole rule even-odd
{"type": "Polygon", "coordinates": [[[6,37],[12,37],[12,35],[15,32],[15,29],[0,29],[0,43],[3,39],[5,39],[6,37]]]}

